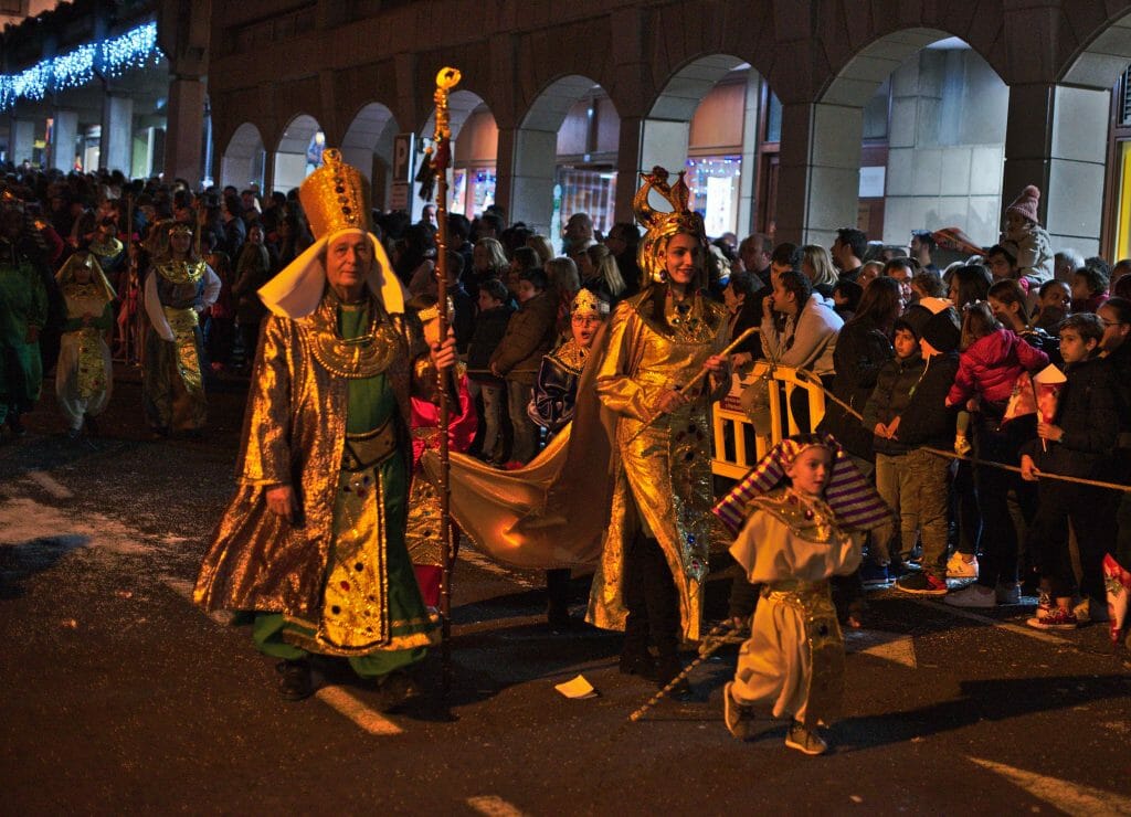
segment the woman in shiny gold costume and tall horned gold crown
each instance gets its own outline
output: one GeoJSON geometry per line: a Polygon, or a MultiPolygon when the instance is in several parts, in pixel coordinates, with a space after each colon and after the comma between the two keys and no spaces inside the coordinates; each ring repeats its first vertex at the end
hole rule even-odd
{"type": "Polygon", "coordinates": [[[719,355],[727,342],[726,310],[702,294],[702,218],[688,209],[683,174],[672,186],[666,180],[667,172],[655,168],[636,195],[637,218],[648,229],[638,261],[650,286],[618,306],[596,373],[601,402],[618,418],[616,466],[587,616],[598,627],[624,631],[622,672],[661,687],[682,669],[681,634],[700,635],[716,532],[709,407],[727,384],[728,368],[719,355]],[[653,210],[650,191],[666,198],[672,212],[653,210]],[[708,380],[684,389],[703,368],[708,380]]]}

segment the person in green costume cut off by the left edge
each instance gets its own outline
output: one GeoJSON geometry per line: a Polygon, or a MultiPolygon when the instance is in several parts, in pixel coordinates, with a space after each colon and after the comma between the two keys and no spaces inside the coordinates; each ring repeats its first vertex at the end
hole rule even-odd
{"type": "Polygon", "coordinates": [[[24,433],[19,416],[32,410],[43,388],[40,330],[48,320],[44,263],[25,229],[19,206],[0,210],[0,427],[24,433]]]}

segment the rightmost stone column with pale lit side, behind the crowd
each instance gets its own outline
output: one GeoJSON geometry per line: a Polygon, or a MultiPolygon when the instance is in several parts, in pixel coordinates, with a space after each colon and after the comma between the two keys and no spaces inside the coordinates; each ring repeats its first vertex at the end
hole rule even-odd
{"type": "Polygon", "coordinates": [[[1110,110],[1105,88],[1035,82],[1009,89],[1002,211],[1036,184],[1054,250],[1099,252],[1110,110]]]}

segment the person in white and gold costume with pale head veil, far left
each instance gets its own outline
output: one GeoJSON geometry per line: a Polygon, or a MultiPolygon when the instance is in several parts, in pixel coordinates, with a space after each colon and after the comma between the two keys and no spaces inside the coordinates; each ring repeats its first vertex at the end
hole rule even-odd
{"type": "Polygon", "coordinates": [[[55,279],[67,302],[67,323],[55,365],[55,397],[76,438],[84,421],[106,408],[113,368],[106,336],[114,327],[114,290],[94,255],[77,252],[55,279]]]}

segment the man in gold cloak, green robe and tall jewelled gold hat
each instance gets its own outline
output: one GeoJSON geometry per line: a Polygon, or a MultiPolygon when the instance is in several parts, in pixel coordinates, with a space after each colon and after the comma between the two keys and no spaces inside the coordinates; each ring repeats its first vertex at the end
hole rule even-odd
{"type": "Polygon", "coordinates": [[[195,592],[253,614],[279,692],[313,692],[310,653],[348,659],[391,707],[438,640],[405,547],[409,399],[455,363],[429,349],[368,229],[361,174],[328,149],[300,190],[318,241],[260,290],[264,322],[239,485],[195,592]]]}

